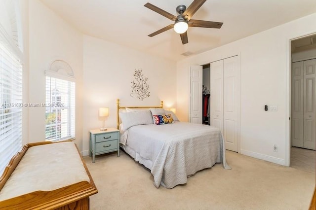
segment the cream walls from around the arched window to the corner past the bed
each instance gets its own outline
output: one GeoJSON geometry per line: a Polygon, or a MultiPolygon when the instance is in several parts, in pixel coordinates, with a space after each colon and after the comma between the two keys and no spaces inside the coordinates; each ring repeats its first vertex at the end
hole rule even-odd
{"type": "MultiPolygon", "coordinates": [[[[116,99],[125,105],[176,106],[176,63],[147,55],[104,40],[82,35],[39,0],[29,1],[28,71],[24,85],[25,103],[45,102],[45,70],[56,59],[70,64],[76,77],[76,143],[88,154],[88,131],[103,126],[98,108],[108,106],[106,126],[116,127],[116,99]],[[135,69],[148,77],[150,97],[132,98],[131,81],[135,69]]],[[[45,108],[29,107],[25,111],[25,142],[45,139],[45,108]],[[26,124],[26,125],[25,125],[26,124]]]]}

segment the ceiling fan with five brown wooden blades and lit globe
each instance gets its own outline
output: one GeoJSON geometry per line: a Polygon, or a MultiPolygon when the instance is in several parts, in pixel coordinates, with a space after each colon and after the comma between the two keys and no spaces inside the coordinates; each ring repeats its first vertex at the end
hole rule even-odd
{"type": "Polygon", "coordinates": [[[202,27],[202,28],[220,29],[222,27],[223,23],[191,19],[192,16],[197,12],[199,7],[201,7],[205,1],[206,0],[194,0],[188,8],[185,5],[177,6],[176,11],[179,14],[178,16],[172,15],[169,12],[166,12],[163,9],[160,9],[159,7],[157,7],[151,3],[146,3],[144,5],[145,7],[147,7],[149,9],[157,12],[158,14],[174,21],[174,24],[170,24],[169,26],[166,26],[162,29],[159,29],[158,31],[156,31],[148,36],[153,37],[154,35],[158,35],[162,32],[168,31],[169,29],[173,28],[176,33],[180,34],[182,44],[186,44],[186,43],[188,43],[188,34],[187,34],[188,27],[202,27]]]}

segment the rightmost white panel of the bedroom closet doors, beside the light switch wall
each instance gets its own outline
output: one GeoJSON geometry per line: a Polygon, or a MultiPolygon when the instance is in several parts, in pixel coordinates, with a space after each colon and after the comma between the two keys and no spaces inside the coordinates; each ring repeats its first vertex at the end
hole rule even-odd
{"type": "Polygon", "coordinates": [[[223,137],[225,148],[238,152],[240,66],[238,56],[224,59],[223,137]]]}

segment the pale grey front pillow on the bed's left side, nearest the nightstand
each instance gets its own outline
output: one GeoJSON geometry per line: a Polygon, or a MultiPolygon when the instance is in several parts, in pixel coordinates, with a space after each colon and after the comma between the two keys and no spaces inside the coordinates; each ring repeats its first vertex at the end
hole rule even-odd
{"type": "Polygon", "coordinates": [[[120,113],[123,130],[127,130],[134,125],[153,124],[153,117],[150,110],[132,111],[120,113]]]}

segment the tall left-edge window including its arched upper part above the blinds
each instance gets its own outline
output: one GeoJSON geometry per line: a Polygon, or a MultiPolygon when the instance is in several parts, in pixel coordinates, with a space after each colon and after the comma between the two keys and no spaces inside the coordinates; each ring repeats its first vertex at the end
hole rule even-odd
{"type": "Polygon", "coordinates": [[[18,0],[0,1],[0,176],[22,148],[22,31],[18,0]]]}

